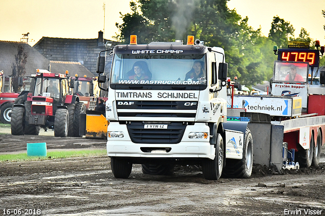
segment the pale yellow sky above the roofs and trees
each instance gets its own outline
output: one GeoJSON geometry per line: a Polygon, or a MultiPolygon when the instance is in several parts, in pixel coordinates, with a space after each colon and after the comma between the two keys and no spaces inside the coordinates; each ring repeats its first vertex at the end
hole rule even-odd
{"type": "MultiPolygon", "coordinates": [[[[0,0],[0,41],[20,41],[29,32],[28,44],[33,46],[42,37],[95,39],[104,29],[104,38],[112,38],[122,23],[119,12],[130,12],[130,0],[0,0]]],[[[325,0],[231,0],[236,9],[254,29],[262,27],[267,37],[273,17],[278,15],[296,29],[298,37],[305,28],[310,37],[325,45],[325,0]]]]}

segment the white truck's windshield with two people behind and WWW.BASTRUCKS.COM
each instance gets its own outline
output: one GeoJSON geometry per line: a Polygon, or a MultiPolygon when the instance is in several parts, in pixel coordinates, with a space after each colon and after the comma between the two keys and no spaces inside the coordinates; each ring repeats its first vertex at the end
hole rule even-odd
{"type": "Polygon", "coordinates": [[[206,54],[115,54],[110,85],[207,86],[206,54]]]}

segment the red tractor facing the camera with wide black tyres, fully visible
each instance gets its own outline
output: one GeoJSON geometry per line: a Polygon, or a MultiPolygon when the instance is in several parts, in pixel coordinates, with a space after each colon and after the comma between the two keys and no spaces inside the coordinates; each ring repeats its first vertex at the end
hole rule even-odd
{"type": "Polygon", "coordinates": [[[11,112],[11,134],[38,135],[40,128],[53,128],[54,136],[79,136],[83,103],[72,95],[68,74],[37,73],[29,91],[22,91],[11,112]]]}

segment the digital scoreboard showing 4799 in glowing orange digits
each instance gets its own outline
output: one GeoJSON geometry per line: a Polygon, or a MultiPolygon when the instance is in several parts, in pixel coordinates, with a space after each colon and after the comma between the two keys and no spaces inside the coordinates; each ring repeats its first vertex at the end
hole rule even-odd
{"type": "Polygon", "coordinates": [[[310,67],[318,67],[319,51],[307,49],[279,49],[278,60],[308,62],[310,67]]]}

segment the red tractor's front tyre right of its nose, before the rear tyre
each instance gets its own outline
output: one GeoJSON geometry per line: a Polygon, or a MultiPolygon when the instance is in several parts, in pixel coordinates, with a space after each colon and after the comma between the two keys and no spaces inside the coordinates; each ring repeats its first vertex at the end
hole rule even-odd
{"type": "Polygon", "coordinates": [[[57,109],[54,117],[54,136],[67,137],[69,115],[66,109],[57,109]]]}

